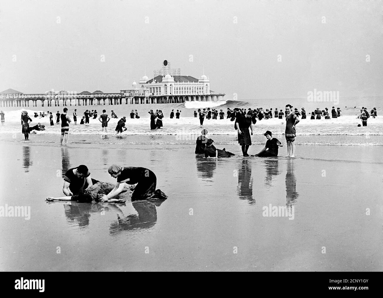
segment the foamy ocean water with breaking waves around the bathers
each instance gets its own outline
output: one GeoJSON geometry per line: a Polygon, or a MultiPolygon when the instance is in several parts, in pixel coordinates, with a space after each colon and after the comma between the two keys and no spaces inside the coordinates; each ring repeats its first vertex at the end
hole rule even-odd
{"type": "MultiPolygon", "coordinates": [[[[227,108],[256,108],[263,107],[278,108],[278,110],[285,110],[285,104],[291,104],[293,107],[301,107],[306,109],[308,119],[303,119],[297,125],[297,144],[301,145],[383,145],[383,117],[380,115],[382,110],[383,97],[350,97],[347,99],[342,98],[339,100],[341,104],[335,106],[340,107],[342,110],[342,117],[337,119],[322,119],[310,120],[309,112],[319,107],[324,109],[332,108],[332,102],[308,102],[307,99],[252,99],[247,102],[238,100],[227,100],[217,102],[186,102],[180,104],[121,104],[121,105],[92,105],[92,106],[67,106],[68,114],[73,119],[73,111],[77,109],[77,125],[72,122],[70,124],[70,142],[87,142],[87,143],[164,143],[164,144],[182,144],[182,143],[195,143],[195,138],[200,135],[200,123],[198,117],[195,118],[193,113],[198,108],[216,108],[226,112],[227,108]],[[361,124],[361,120],[357,119],[357,114],[360,107],[367,106],[370,110],[376,107],[378,110],[378,117],[368,119],[367,127],[357,127],[361,124]],[[111,119],[109,122],[108,133],[101,131],[101,123],[98,119],[90,119],[89,125],[80,125],[81,115],[86,109],[95,109],[98,115],[102,114],[105,109],[106,114],[111,114],[113,110],[116,115],[121,118],[127,117],[126,127],[128,130],[122,134],[121,137],[113,137],[115,127],[118,119],[111,119]],[[130,119],[129,113],[131,110],[138,111],[140,119],[130,119]],[[164,113],[164,127],[157,130],[150,130],[150,119],[148,111],[153,109],[162,110],[164,113]],[[171,110],[181,111],[180,119],[170,119],[169,115],[171,110]],[[74,137],[73,135],[80,135],[74,137]],[[146,137],[145,137],[146,136],[146,137]],[[162,136],[162,137],[159,137],[162,136]],[[326,136],[326,137],[325,137],[326,136]]],[[[53,114],[57,111],[62,112],[63,106],[60,107],[5,107],[5,124],[0,126],[0,134],[5,134],[2,139],[10,141],[22,141],[23,135],[21,134],[20,115],[22,110],[28,111],[29,117],[33,120],[31,126],[40,122],[46,125],[46,130],[37,132],[36,137],[30,136],[32,142],[57,142],[57,137],[54,135],[61,134],[60,125],[56,125],[56,116],[54,115],[54,126],[49,125],[49,117],[34,118],[34,112],[41,112],[44,110],[53,110],[53,114]],[[10,134],[7,136],[7,134],[10,134]],[[38,136],[38,137],[37,137],[38,136]],[[51,136],[51,137],[49,137],[51,136]]],[[[231,144],[236,142],[237,132],[234,130],[234,123],[229,119],[213,120],[205,119],[204,126],[208,129],[209,135],[216,143],[231,144]]],[[[255,142],[265,142],[263,133],[270,130],[273,134],[283,138],[285,132],[284,119],[263,119],[257,121],[254,125],[254,135],[260,137],[253,137],[255,142]]]]}

